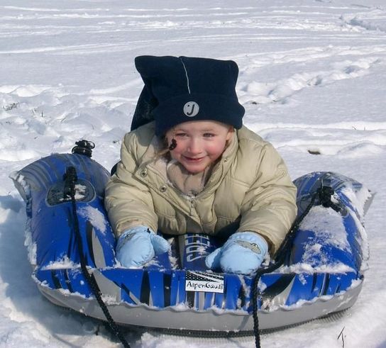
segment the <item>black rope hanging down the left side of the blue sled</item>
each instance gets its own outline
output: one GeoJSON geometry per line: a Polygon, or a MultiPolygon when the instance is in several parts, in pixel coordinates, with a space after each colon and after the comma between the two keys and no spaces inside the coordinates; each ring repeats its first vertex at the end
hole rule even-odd
{"type": "Polygon", "coordinates": [[[98,302],[99,306],[101,307],[101,310],[104,313],[104,316],[106,317],[107,322],[109,323],[109,326],[111,330],[114,332],[114,335],[120,339],[121,343],[123,344],[123,347],[130,348],[130,344],[126,341],[126,338],[123,336],[121,330],[119,330],[118,325],[114,321],[114,319],[111,317],[109,313],[109,309],[107,308],[106,304],[104,303],[102,299],[102,293],[99,289],[98,284],[96,283],[94,274],[89,273],[89,270],[87,269],[87,259],[84,257],[83,254],[83,245],[82,245],[82,236],[80,235],[79,230],[79,220],[77,215],[77,203],[75,200],[75,182],[77,181],[77,172],[74,167],[67,167],[65,176],[65,189],[64,194],[65,196],[71,197],[71,203],[72,203],[72,215],[74,217],[74,228],[75,228],[75,235],[77,240],[77,247],[79,249],[79,257],[80,257],[80,267],[82,269],[82,274],[84,278],[87,281],[87,284],[89,284],[89,287],[92,290],[92,293],[94,294],[96,301],[98,302]]]}

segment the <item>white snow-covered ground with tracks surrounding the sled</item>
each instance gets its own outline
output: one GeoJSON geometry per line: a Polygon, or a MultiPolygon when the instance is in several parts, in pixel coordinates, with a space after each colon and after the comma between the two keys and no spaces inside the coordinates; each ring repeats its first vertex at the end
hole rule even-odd
{"type": "MultiPolygon", "coordinates": [[[[293,179],[334,171],[376,191],[358,302],[263,335],[262,345],[386,347],[384,0],[1,0],[0,347],[119,346],[96,320],[38,293],[24,203],[8,176],[82,138],[111,167],[143,85],[137,55],[236,60],[245,123],[277,147],[293,179]]],[[[251,337],[127,335],[132,347],[253,347],[251,337]]]]}

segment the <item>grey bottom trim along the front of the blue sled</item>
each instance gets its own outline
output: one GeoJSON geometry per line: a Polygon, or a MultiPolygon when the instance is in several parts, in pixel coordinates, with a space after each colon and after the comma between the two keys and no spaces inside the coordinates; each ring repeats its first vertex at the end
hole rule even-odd
{"type": "MultiPolygon", "coordinates": [[[[329,313],[350,308],[358,298],[362,282],[340,295],[329,299],[317,298],[313,302],[304,303],[294,308],[278,308],[272,312],[259,310],[258,319],[260,330],[270,330],[279,327],[299,324],[320,318],[329,313]]],[[[63,293],[60,290],[48,288],[38,284],[43,295],[51,302],[62,307],[72,308],[79,313],[100,320],[106,320],[104,314],[94,298],[84,298],[76,294],[63,293]]],[[[252,315],[236,313],[234,311],[192,309],[176,310],[168,307],[163,309],[151,308],[148,305],[128,305],[127,303],[107,304],[111,316],[119,325],[135,325],[140,327],[202,330],[202,331],[253,331],[252,315]]]]}

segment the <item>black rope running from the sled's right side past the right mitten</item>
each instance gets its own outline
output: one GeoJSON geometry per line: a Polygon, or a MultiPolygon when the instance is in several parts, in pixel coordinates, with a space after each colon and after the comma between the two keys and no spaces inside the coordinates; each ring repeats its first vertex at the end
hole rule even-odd
{"type": "Polygon", "coordinates": [[[259,331],[259,319],[258,319],[258,300],[261,300],[261,293],[258,288],[258,282],[263,276],[263,274],[271,273],[272,271],[275,271],[278,269],[282,264],[285,262],[285,257],[287,255],[287,250],[292,245],[292,241],[294,240],[294,236],[296,235],[297,231],[299,230],[299,226],[304,220],[304,218],[307,216],[309,211],[311,210],[312,206],[314,206],[314,203],[316,201],[316,198],[320,195],[319,190],[314,193],[314,195],[311,196],[311,201],[309,202],[307,208],[304,210],[302,215],[300,215],[296,220],[294,220],[294,223],[292,224],[292,227],[289,229],[289,232],[287,233],[287,236],[285,237],[285,240],[282,242],[282,245],[277,250],[277,258],[275,263],[271,264],[270,266],[266,267],[265,269],[260,269],[256,272],[255,277],[253,279],[253,288],[252,288],[252,316],[253,316],[253,333],[255,334],[255,347],[260,348],[260,331],[259,331]]]}

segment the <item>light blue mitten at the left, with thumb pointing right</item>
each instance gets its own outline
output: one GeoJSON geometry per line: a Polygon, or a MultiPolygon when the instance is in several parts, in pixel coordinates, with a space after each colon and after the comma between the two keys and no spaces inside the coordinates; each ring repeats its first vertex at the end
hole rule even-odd
{"type": "Polygon", "coordinates": [[[139,225],[122,233],[116,244],[116,259],[125,267],[140,267],[162,254],[170,245],[150,228],[139,225]]]}

